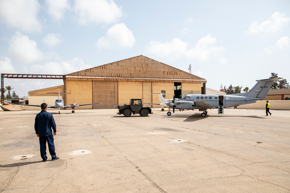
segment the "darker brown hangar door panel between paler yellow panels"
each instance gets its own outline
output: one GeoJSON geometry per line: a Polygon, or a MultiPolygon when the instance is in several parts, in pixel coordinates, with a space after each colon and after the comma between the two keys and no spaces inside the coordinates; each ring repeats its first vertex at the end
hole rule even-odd
{"type": "Polygon", "coordinates": [[[93,109],[116,109],[118,105],[118,81],[93,80],[93,109]]]}

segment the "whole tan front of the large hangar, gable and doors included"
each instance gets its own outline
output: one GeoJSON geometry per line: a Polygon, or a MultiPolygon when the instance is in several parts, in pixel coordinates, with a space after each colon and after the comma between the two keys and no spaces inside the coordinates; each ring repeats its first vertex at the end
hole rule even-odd
{"type": "Polygon", "coordinates": [[[74,99],[77,104],[102,102],[93,105],[93,109],[115,109],[131,98],[160,103],[157,95],[149,93],[167,93],[165,98],[205,94],[205,83],[203,78],[141,55],[67,74],[66,92],[72,94],[66,95],[66,103],[71,104],[74,99]]]}

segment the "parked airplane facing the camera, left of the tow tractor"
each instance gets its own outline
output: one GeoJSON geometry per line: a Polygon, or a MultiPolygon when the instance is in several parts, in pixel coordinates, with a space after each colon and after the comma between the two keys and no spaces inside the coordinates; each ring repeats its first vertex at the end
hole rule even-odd
{"type": "MultiPolygon", "coordinates": [[[[72,108],[72,113],[75,113],[75,108],[77,106],[83,106],[83,105],[90,105],[90,104],[101,104],[101,103],[90,103],[90,104],[75,104],[75,101],[73,104],[70,104],[68,106],[64,106],[64,100],[60,98],[60,94],[71,94],[71,93],[46,93],[46,94],[58,94],[58,99],[55,100],[55,105],[50,106],[48,105],[47,108],[53,108],[58,109],[58,114],[60,114],[60,109],[64,108],[72,108]]],[[[27,106],[41,106],[40,104],[18,104],[18,105],[27,105],[27,106]]]]}

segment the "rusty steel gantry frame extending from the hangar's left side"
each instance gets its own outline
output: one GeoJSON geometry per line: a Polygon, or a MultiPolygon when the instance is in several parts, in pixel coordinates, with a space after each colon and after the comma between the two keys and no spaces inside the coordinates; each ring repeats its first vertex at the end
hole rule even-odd
{"type": "MultiPolygon", "coordinates": [[[[4,105],[4,78],[30,78],[30,79],[63,79],[64,92],[66,93],[66,75],[51,74],[1,74],[1,99],[4,105]]],[[[66,94],[64,94],[64,105],[66,105],[66,94]]]]}

